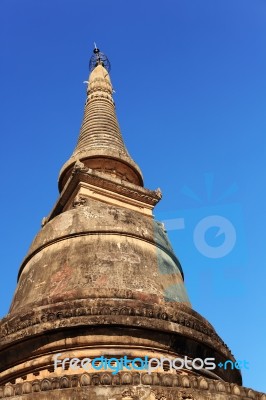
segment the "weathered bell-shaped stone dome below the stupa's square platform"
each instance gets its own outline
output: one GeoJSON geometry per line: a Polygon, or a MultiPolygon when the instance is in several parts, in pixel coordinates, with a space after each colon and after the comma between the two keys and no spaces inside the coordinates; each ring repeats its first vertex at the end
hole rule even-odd
{"type": "Polygon", "coordinates": [[[180,263],[161,224],[90,200],[58,215],[37,235],[22,264],[11,312],[43,299],[118,289],[189,304],[180,263]]]}

